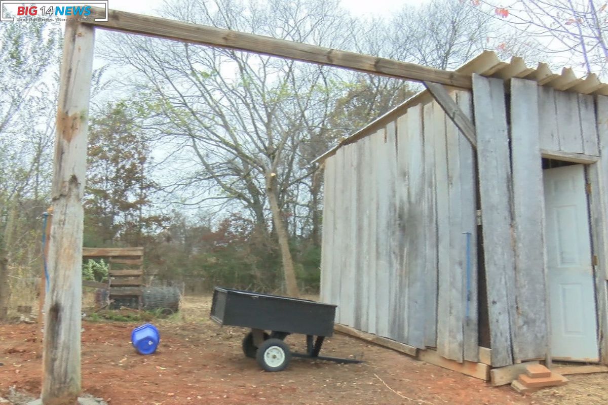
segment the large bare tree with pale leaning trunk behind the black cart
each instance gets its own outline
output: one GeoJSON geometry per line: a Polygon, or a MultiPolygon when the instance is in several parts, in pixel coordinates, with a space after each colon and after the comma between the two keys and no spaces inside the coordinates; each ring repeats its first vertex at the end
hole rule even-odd
{"type": "MultiPolygon", "coordinates": [[[[348,47],[355,26],[337,1],[184,6],[176,2],[168,10],[185,21],[328,47],[348,47]]],[[[148,128],[173,149],[167,154],[178,181],[170,191],[193,191],[190,203],[248,211],[259,234],[277,237],[286,291],[297,295],[287,227],[291,209],[308,206],[294,204],[296,196],[310,197],[303,184],[315,168],[303,152],[320,139],[331,142],[329,116],[351,73],[233,50],[116,38],[101,52],[130,72],[132,80],[123,83],[151,112],[148,128]]]]}

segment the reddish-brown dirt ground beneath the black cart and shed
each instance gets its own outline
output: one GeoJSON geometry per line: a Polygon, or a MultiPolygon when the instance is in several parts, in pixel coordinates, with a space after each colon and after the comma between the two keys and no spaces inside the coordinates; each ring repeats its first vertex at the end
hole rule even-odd
{"type": "MultiPolygon", "coordinates": [[[[350,336],[326,340],[330,356],[355,355],[364,364],[292,359],[269,373],[241,352],[241,328],[208,318],[209,298],[187,298],[182,311],[155,322],[161,344],[138,355],[130,344],[134,324],[83,322],[83,391],[109,405],[170,404],[606,404],[608,373],[570,376],[570,384],[520,395],[409,358],[350,336]]],[[[0,324],[0,396],[9,387],[40,395],[41,344],[37,325],[0,324]]],[[[286,339],[303,350],[303,336],[286,339]]]]}

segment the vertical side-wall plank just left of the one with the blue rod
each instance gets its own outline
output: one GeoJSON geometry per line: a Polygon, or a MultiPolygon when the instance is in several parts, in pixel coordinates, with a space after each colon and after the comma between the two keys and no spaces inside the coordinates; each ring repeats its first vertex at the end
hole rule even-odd
{"type": "Polygon", "coordinates": [[[449,204],[449,291],[447,291],[447,305],[449,305],[449,318],[447,319],[447,335],[440,336],[438,349],[440,355],[457,362],[463,361],[463,320],[465,318],[463,284],[464,260],[466,256],[465,235],[462,226],[462,193],[461,193],[461,167],[459,140],[461,134],[454,123],[446,118],[447,143],[447,192],[449,204]]]}

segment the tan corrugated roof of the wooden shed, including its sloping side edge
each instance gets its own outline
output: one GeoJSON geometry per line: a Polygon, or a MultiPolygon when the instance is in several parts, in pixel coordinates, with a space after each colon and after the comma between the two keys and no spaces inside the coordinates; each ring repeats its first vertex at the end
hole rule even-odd
{"type": "MultiPolygon", "coordinates": [[[[556,90],[576,92],[580,94],[608,95],[608,83],[602,83],[595,73],[587,77],[577,78],[569,67],[564,67],[561,73],[553,73],[546,63],[539,63],[536,67],[528,67],[522,58],[513,56],[511,61],[501,61],[496,53],[485,50],[480,55],[456,69],[459,73],[477,73],[485,77],[496,77],[502,80],[510,80],[513,77],[536,81],[539,86],[553,87],[556,90]]],[[[348,143],[353,143],[368,134],[372,129],[385,125],[393,120],[393,117],[401,115],[402,112],[416,104],[432,100],[427,90],[423,90],[403,103],[399,104],[386,114],[371,121],[354,134],[344,137],[338,145],[317,157],[314,162],[323,162],[327,157],[333,155],[337,149],[348,143]]]]}

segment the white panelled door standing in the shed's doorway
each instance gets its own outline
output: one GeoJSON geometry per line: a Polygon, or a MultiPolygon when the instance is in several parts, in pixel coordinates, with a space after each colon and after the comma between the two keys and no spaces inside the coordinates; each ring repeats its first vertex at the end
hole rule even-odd
{"type": "Polygon", "coordinates": [[[551,356],[599,361],[583,165],[544,170],[551,356]]]}

